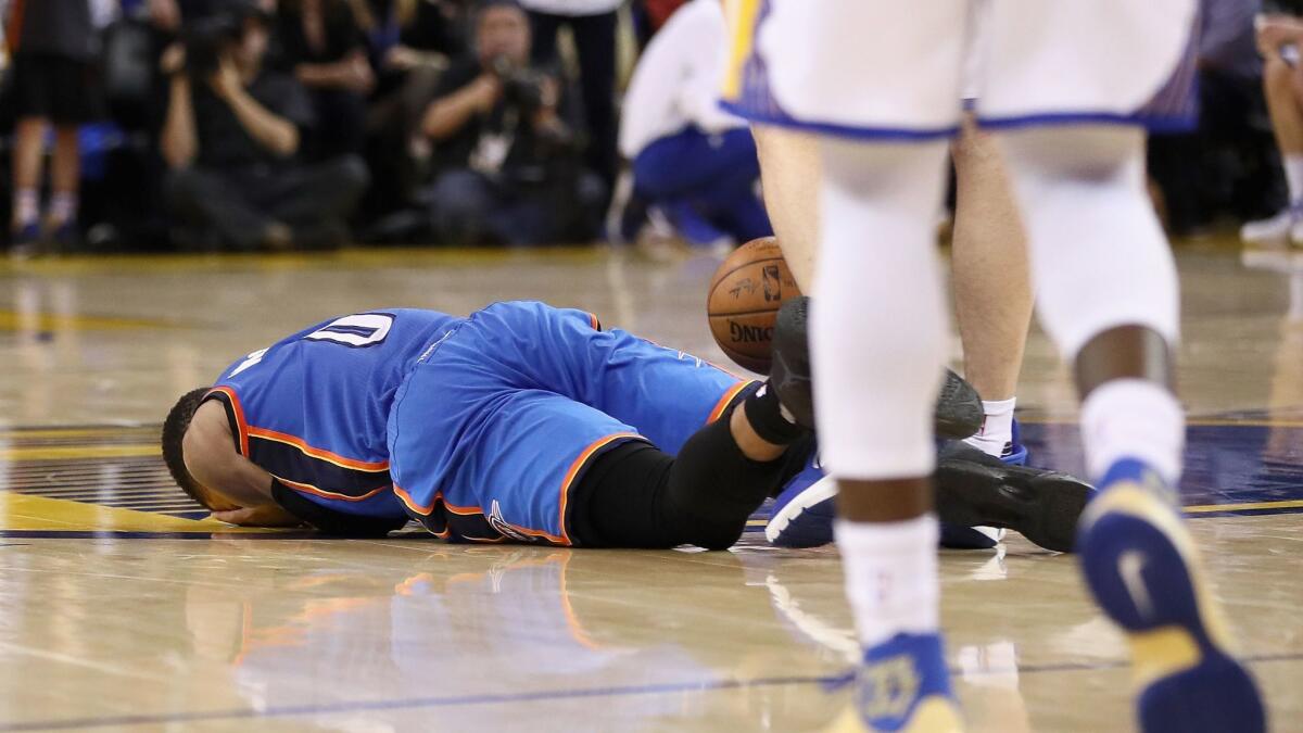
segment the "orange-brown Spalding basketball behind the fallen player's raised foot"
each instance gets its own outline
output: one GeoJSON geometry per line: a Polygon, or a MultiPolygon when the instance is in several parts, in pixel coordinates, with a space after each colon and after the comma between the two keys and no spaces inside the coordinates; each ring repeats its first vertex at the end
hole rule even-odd
{"type": "Polygon", "coordinates": [[[767,373],[778,307],[800,293],[778,240],[767,236],[748,241],[710,279],[710,334],[737,365],[767,373]]]}

